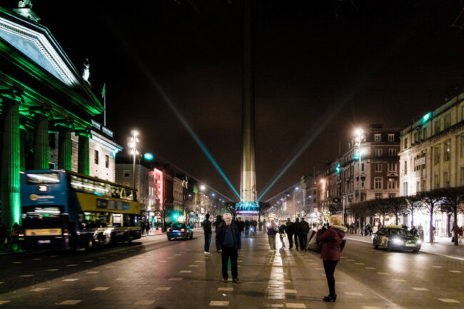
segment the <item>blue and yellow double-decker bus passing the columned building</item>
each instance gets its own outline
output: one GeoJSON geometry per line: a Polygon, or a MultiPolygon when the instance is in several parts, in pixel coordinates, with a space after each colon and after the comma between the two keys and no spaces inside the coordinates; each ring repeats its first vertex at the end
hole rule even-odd
{"type": "Polygon", "coordinates": [[[24,249],[66,250],[141,238],[136,189],[64,170],[21,173],[24,249]]]}

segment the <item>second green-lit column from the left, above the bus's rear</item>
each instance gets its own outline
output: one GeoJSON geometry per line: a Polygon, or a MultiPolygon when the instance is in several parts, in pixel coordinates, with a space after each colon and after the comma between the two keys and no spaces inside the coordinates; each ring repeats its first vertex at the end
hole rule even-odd
{"type": "Polygon", "coordinates": [[[49,168],[49,113],[34,111],[34,169],[49,168]]]}

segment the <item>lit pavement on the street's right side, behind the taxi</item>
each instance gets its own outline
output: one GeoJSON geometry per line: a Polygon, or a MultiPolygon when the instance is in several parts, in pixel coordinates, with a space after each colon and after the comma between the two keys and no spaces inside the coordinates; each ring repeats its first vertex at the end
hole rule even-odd
{"type": "MultiPolygon", "coordinates": [[[[370,236],[347,233],[345,238],[347,240],[357,240],[362,241],[363,243],[372,244],[372,238],[370,236]]],[[[454,245],[454,243],[451,242],[450,237],[437,237],[435,238],[435,243],[424,242],[420,248],[420,252],[464,260],[464,243],[454,245]]]]}

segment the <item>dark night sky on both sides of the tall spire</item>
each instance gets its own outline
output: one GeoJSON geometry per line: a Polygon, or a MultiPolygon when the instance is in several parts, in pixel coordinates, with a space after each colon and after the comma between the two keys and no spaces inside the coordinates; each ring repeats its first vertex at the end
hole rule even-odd
{"type": "MultiPolygon", "coordinates": [[[[137,128],[144,152],[233,198],[166,103],[178,108],[238,191],[243,1],[230,2],[36,0],[33,9],[79,71],[89,58],[94,92],[106,83],[107,126],[118,143],[126,146],[137,128]]],[[[258,195],[310,141],[262,201],[336,158],[355,127],[403,128],[462,91],[464,33],[451,28],[462,6],[257,1],[258,195]]]]}

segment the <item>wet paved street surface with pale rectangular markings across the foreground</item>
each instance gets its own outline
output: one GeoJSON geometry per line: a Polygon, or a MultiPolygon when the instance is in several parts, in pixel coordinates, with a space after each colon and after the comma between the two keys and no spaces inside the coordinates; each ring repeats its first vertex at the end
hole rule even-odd
{"type": "Polygon", "coordinates": [[[211,255],[203,255],[198,231],[193,240],[155,235],[91,252],[4,255],[0,309],[464,308],[462,260],[348,240],[336,269],[337,302],[323,303],[318,254],[271,253],[266,235],[243,238],[242,283],[222,283],[213,241],[211,255]]]}

